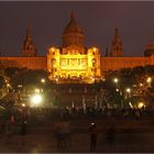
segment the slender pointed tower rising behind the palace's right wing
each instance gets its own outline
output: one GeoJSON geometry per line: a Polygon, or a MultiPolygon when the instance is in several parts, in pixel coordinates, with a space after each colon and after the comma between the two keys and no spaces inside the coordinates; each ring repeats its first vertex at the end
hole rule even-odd
{"type": "Polygon", "coordinates": [[[110,56],[112,57],[122,57],[123,56],[123,47],[122,42],[119,36],[118,29],[114,31],[114,37],[111,44],[111,53],[110,56]]]}

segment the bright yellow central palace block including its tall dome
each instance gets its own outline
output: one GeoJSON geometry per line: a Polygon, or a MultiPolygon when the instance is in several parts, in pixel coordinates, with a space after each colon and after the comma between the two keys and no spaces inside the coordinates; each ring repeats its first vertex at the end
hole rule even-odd
{"type": "Polygon", "coordinates": [[[51,46],[47,54],[50,78],[61,82],[94,82],[100,77],[100,52],[96,46],[86,47],[84,32],[70,13],[70,20],[63,31],[61,47],[51,46]]]}

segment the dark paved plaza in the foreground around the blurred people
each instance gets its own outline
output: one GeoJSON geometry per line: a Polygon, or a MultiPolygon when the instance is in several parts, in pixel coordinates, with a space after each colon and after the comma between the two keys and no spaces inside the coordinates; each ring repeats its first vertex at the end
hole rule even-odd
{"type": "MultiPolygon", "coordinates": [[[[77,122],[73,122],[73,124],[77,122]]],[[[88,123],[88,122],[87,122],[88,123]]],[[[85,125],[87,124],[85,122],[85,125]]],[[[136,121],[132,127],[120,128],[117,123],[116,140],[110,144],[107,140],[107,132],[103,125],[107,122],[97,122],[98,125],[98,140],[96,153],[150,153],[154,152],[154,127],[142,125],[145,122],[136,121]],[[139,127],[135,125],[139,124],[139,127]]],[[[74,124],[72,133],[72,146],[63,146],[57,148],[57,142],[53,132],[53,124],[33,127],[28,130],[26,135],[0,134],[0,152],[1,153],[89,153],[89,131],[86,127],[77,128],[74,124]]],[[[124,125],[124,123],[122,124],[124,125]]],[[[107,125],[106,125],[107,128],[107,125]]]]}

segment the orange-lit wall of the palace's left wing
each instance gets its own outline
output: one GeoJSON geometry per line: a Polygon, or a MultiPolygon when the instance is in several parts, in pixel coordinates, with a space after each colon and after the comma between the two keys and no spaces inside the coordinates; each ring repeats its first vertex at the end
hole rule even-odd
{"type": "Polygon", "coordinates": [[[0,65],[7,67],[28,67],[29,69],[47,69],[46,56],[37,57],[0,57],[0,65]]]}

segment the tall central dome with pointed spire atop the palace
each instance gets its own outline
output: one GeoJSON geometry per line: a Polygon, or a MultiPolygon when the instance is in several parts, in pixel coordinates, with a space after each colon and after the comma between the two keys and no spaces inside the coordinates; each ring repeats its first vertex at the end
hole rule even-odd
{"type": "Polygon", "coordinates": [[[69,45],[84,46],[84,32],[77,24],[73,12],[70,14],[69,23],[63,31],[63,46],[67,47],[69,45]]]}

